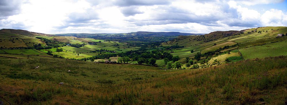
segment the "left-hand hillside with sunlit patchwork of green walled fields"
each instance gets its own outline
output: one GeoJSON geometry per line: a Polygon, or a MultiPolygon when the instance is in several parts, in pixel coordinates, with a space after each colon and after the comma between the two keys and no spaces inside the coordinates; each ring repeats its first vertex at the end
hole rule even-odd
{"type": "MultiPolygon", "coordinates": [[[[79,38],[73,36],[54,36],[35,33],[27,30],[1,29],[0,53],[61,56],[69,59],[84,59],[98,55],[117,55],[139,47],[129,46],[128,43],[105,41],[93,38],[79,38]],[[63,49],[63,51],[57,51],[63,49]],[[51,54],[48,54],[51,51],[51,54]]],[[[107,58],[107,57],[100,57],[107,58]]],[[[115,59],[116,60],[116,59],[115,59]]]]}

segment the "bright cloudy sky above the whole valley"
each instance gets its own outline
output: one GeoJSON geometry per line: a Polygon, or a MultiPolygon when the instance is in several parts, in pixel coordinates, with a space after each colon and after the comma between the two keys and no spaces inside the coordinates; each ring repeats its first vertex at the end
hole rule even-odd
{"type": "Polygon", "coordinates": [[[210,33],[287,26],[285,0],[0,0],[0,28],[38,33],[210,33]]]}

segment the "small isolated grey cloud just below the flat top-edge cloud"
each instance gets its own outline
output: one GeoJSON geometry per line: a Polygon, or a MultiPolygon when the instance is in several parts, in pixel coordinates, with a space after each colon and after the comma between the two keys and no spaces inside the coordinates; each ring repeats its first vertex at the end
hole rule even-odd
{"type": "Polygon", "coordinates": [[[130,6],[130,7],[122,7],[121,13],[124,14],[124,16],[135,16],[135,14],[143,14],[144,12],[139,11],[138,7],[136,6],[130,6]]]}

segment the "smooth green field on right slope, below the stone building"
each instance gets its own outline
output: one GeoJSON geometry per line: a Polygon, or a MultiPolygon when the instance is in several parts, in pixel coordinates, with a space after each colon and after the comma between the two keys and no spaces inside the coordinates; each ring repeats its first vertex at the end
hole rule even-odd
{"type": "Polygon", "coordinates": [[[287,55],[287,42],[280,41],[276,43],[269,43],[265,45],[258,45],[239,49],[244,59],[264,58],[270,56],[287,55]]]}

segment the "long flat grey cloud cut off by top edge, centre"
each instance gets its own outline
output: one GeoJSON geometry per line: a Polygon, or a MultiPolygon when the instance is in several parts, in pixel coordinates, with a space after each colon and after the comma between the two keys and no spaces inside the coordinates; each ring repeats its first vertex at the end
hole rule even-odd
{"type": "Polygon", "coordinates": [[[114,4],[125,7],[132,5],[167,5],[169,3],[168,0],[118,0],[114,4]]]}

